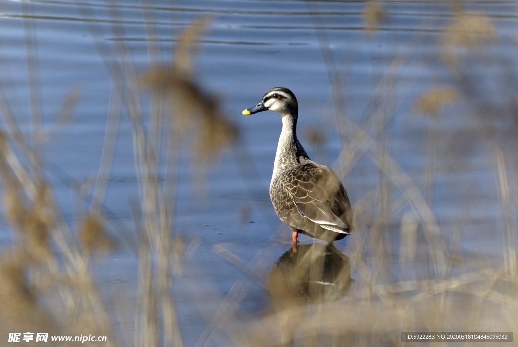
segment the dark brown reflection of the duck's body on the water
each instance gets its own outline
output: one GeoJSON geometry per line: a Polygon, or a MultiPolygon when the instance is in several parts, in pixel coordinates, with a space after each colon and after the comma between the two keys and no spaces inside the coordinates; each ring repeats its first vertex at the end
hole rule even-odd
{"type": "Polygon", "coordinates": [[[278,309],[305,301],[339,299],[354,282],[349,258],[333,244],[322,243],[298,245],[297,252],[290,249],[284,253],[268,280],[278,309]]]}

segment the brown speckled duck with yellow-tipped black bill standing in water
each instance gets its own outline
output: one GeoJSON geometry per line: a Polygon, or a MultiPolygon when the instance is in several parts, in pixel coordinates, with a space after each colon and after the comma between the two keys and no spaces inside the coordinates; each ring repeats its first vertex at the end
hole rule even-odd
{"type": "Polygon", "coordinates": [[[299,233],[329,244],[351,234],[353,213],[346,189],[336,173],[312,161],[298,141],[295,94],[284,87],[272,88],[242,115],[267,110],[282,118],[269,194],[275,213],[292,230],[293,252],[297,252],[299,233]]]}

